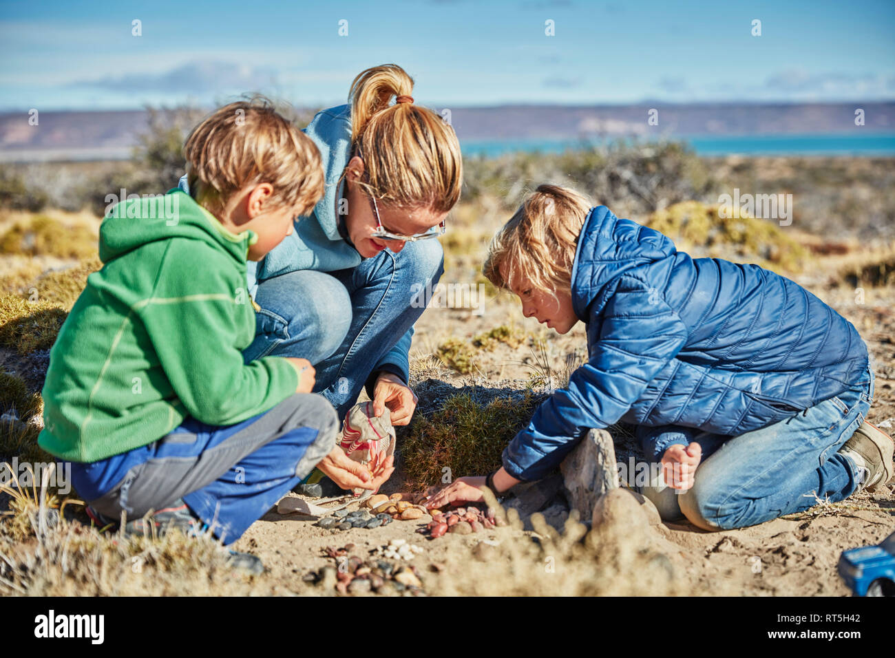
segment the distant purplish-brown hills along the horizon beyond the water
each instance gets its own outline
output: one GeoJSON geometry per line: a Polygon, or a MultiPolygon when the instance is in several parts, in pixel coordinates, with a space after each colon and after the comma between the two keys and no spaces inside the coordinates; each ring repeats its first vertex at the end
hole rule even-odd
{"type": "MultiPolygon", "coordinates": [[[[0,114],[0,161],[130,158],[147,117],[142,110],[41,112],[38,125],[30,125],[27,113],[0,114]]],[[[461,141],[895,132],[895,102],[458,107],[450,121],[461,141]],[[855,125],[857,107],[865,111],[862,128],[855,125]],[[658,125],[647,123],[652,108],[658,125]]]]}

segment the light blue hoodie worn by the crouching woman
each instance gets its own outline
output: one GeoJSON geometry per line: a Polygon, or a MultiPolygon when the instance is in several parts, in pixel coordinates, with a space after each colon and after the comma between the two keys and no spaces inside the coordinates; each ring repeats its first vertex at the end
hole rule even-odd
{"type": "MultiPolygon", "coordinates": [[[[325,175],[323,198],[310,216],[295,221],[292,235],[286,235],[286,239],[263,260],[258,263],[249,261],[248,287],[252,297],[258,290],[259,279],[263,281],[298,269],[332,272],[356,268],[362,261],[361,254],[345,241],[338,230],[337,204],[343,198],[345,188],[345,181],[339,184],[339,177],[351,159],[351,106],[340,105],[321,110],[303,132],[320,150],[325,175]]],[[[180,188],[189,192],[185,175],[180,179],[180,188]]],[[[410,370],[407,355],[412,338],[413,327],[382,357],[373,372],[390,364],[402,372],[407,381],[410,370]]]]}

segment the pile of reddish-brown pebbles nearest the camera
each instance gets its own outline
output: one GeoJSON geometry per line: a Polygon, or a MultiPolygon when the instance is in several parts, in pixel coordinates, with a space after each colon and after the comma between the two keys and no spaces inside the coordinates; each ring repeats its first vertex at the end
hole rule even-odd
{"type": "MultiPolygon", "coordinates": [[[[406,544],[405,544],[406,545],[406,544]]],[[[422,580],[412,565],[396,565],[379,556],[363,560],[352,555],[354,544],[342,548],[328,546],[324,550],[336,560],[336,567],[324,567],[311,571],[304,577],[306,582],[319,585],[326,591],[335,589],[339,594],[425,594],[422,580]]]]}

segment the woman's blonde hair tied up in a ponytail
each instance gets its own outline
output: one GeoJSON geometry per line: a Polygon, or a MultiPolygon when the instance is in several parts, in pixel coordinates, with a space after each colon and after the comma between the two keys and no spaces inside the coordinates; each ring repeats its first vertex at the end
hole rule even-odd
{"type": "Polygon", "coordinates": [[[358,184],[385,206],[447,212],[463,183],[460,144],[429,108],[388,104],[412,91],[413,78],[397,64],[369,68],[351,83],[352,150],[368,175],[358,184]]]}

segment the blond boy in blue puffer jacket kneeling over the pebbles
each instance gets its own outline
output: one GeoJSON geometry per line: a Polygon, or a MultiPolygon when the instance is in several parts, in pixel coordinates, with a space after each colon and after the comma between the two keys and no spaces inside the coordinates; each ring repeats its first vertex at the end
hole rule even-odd
{"type": "Polygon", "coordinates": [[[693,259],[553,185],[495,235],[484,273],[558,333],[583,320],[589,359],[538,407],[501,468],[460,478],[430,507],[540,479],[589,428],[619,421],[661,460],[669,488],[644,495],[663,518],[705,530],[754,526],[891,478],[895,446],[865,423],[867,346],[788,278],[693,259]]]}

